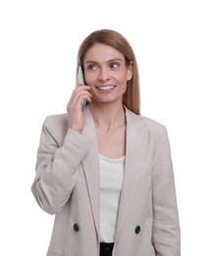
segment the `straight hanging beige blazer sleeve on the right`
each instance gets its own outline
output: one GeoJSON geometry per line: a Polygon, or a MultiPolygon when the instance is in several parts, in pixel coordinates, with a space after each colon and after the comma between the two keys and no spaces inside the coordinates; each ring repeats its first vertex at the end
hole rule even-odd
{"type": "Polygon", "coordinates": [[[167,130],[162,129],[153,165],[153,246],[156,256],[180,256],[181,235],[167,130]]]}

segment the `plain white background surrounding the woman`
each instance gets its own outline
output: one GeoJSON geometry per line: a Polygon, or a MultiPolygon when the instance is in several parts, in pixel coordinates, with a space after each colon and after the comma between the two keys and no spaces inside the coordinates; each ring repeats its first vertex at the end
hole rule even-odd
{"type": "Polygon", "coordinates": [[[182,254],[213,255],[210,0],[1,1],[0,253],[46,253],[54,217],[30,192],[40,129],[46,115],[65,112],[80,42],[98,29],[129,39],[141,112],[168,128],[182,254]]]}

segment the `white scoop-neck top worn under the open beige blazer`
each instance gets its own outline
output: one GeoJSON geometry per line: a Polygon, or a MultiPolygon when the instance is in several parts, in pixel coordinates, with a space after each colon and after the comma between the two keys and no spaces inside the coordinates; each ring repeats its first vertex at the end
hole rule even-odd
{"type": "Polygon", "coordinates": [[[125,169],[125,157],[100,161],[100,241],[114,242],[125,169]]]}

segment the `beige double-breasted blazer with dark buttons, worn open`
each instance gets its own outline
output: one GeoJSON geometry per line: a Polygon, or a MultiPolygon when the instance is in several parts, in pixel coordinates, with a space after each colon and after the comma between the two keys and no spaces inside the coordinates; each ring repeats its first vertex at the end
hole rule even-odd
{"type": "MultiPolygon", "coordinates": [[[[45,119],[31,190],[56,215],[47,256],[99,256],[99,160],[93,119],[82,134],[67,114],[45,119]]],[[[113,256],[180,256],[167,131],[126,108],[127,149],[113,256]]],[[[43,226],[42,226],[43,228],[43,226]]]]}

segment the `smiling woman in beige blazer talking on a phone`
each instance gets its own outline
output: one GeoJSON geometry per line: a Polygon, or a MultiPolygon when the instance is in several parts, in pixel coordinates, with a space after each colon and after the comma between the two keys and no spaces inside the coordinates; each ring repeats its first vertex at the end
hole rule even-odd
{"type": "Polygon", "coordinates": [[[81,43],[67,114],[48,116],[32,193],[56,215],[48,256],[180,256],[167,131],[139,114],[127,39],[109,30],[81,43]],[[85,108],[82,100],[86,100],[85,108]]]}

